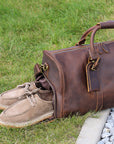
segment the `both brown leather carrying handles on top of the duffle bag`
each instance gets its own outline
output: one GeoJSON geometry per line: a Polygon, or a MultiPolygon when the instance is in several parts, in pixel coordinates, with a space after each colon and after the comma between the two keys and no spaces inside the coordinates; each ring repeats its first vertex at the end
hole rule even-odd
{"type": "Polygon", "coordinates": [[[91,34],[91,38],[90,38],[90,58],[91,59],[97,59],[98,58],[98,54],[95,51],[94,48],[94,36],[95,33],[99,30],[99,29],[113,29],[114,28],[114,21],[107,21],[107,22],[101,22],[98,23],[97,25],[89,28],[81,37],[80,41],[76,44],[76,45],[81,45],[84,44],[86,41],[86,37],[88,36],[88,34],[90,32],[92,32],[91,34]]]}

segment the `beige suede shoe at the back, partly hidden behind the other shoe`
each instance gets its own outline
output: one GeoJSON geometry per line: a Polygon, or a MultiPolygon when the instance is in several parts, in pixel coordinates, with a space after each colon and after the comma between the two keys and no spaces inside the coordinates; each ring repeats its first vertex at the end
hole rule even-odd
{"type": "Polygon", "coordinates": [[[12,90],[8,90],[0,94],[0,109],[8,108],[11,104],[21,100],[21,96],[23,94],[34,89],[37,89],[34,82],[24,83],[22,85],[18,85],[12,90]]]}

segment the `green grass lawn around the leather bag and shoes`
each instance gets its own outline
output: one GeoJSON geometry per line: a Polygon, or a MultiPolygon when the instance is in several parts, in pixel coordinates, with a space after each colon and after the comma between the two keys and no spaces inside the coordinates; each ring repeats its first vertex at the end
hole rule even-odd
{"type": "MultiPolygon", "coordinates": [[[[111,19],[114,0],[0,0],[0,93],[34,80],[43,50],[73,46],[89,27],[111,19]]],[[[112,39],[113,30],[96,35],[96,41],[112,39]]],[[[90,115],[23,129],[0,127],[0,144],[74,144],[90,115]]]]}

